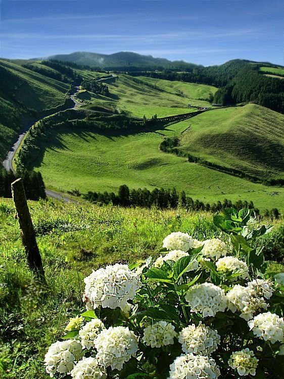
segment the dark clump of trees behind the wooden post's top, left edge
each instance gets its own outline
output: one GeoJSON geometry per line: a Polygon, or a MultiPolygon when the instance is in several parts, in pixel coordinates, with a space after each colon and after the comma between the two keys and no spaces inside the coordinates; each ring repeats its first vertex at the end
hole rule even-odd
{"type": "Polygon", "coordinates": [[[40,172],[22,170],[14,174],[0,168],[0,197],[12,198],[11,183],[21,177],[29,200],[45,199],[45,185],[40,172]]]}

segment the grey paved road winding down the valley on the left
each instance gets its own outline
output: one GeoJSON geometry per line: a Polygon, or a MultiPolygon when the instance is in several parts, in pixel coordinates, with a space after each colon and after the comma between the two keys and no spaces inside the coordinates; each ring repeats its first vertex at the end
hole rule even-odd
{"type": "MultiPolygon", "coordinates": [[[[70,99],[73,101],[74,105],[73,107],[71,108],[67,108],[67,109],[74,109],[76,106],[79,106],[80,103],[77,102],[75,99],[74,99],[74,95],[79,91],[79,87],[76,87],[76,91],[74,93],[72,93],[70,95],[70,99]]],[[[32,125],[34,125],[37,121],[39,120],[42,120],[44,117],[46,116],[43,116],[43,117],[39,117],[37,118],[36,120],[34,120],[33,122],[27,124],[24,128],[24,130],[22,131],[22,133],[19,135],[17,141],[15,142],[15,144],[12,146],[12,148],[10,149],[10,151],[8,152],[5,160],[3,161],[3,166],[4,168],[7,170],[7,171],[13,171],[15,173],[15,170],[13,168],[13,159],[22,143],[22,140],[24,139],[27,131],[32,127],[32,125]]],[[[63,200],[65,203],[75,203],[75,204],[78,204],[78,202],[76,200],[73,200],[71,198],[69,198],[68,196],[63,196],[62,194],[58,193],[58,192],[55,192],[55,191],[51,191],[51,189],[45,189],[45,194],[46,196],[49,196],[53,199],[57,199],[57,200],[63,200]]]]}

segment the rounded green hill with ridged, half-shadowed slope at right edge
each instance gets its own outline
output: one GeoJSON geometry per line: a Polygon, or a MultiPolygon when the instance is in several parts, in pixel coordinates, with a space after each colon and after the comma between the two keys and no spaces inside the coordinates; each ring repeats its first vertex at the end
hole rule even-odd
{"type": "Polygon", "coordinates": [[[188,121],[180,149],[261,178],[284,177],[284,115],[248,104],[188,121]]]}

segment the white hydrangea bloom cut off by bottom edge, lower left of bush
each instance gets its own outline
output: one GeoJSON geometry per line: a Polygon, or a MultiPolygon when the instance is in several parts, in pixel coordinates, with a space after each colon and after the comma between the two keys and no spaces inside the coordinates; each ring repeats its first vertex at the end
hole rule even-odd
{"type": "Polygon", "coordinates": [[[74,379],[106,379],[107,373],[104,367],[100,366],[97,359],[93,357],[79,361],[71,371],[74,379]]]}

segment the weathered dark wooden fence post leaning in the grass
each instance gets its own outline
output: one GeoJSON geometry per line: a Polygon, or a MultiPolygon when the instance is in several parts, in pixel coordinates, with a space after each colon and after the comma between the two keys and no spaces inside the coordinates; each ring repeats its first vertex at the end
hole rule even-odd
{"type": "Polygon", "coordinates": [[[27,254],[27,260],[34,274],[45,282],[41,256],[35,239],[35,231],[30,216],[25,189],[21,178],[12,184],[12,196],[15,203],[20,228],[22,230],[22,242],[27,254]]]}

